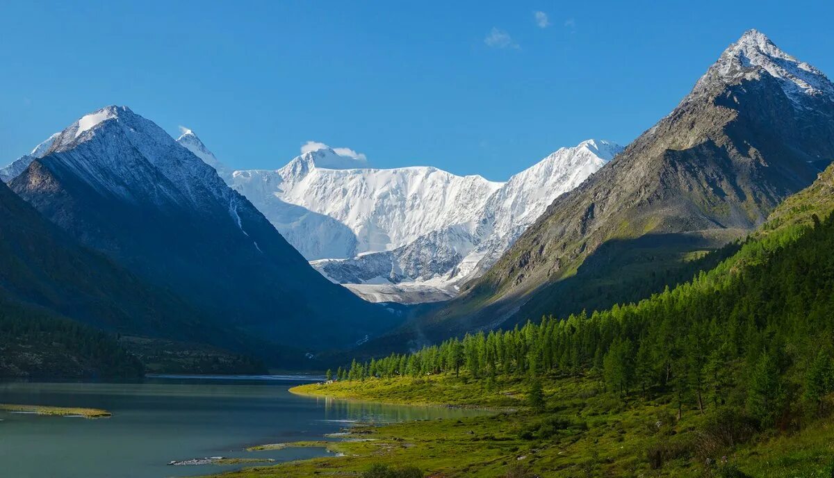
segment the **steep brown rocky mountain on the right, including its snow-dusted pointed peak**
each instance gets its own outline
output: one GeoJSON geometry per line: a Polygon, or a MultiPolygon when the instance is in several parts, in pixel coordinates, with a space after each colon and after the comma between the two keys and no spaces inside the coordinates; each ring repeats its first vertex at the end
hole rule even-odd
{"type": "Polygon", "coordinates": [[[834,85],[748,31],[677,108],[557,198],[495,266],[409,334],[574,311],[563,303],[604,306],[592,299],[746,234],[832,158],[834,85]]]}

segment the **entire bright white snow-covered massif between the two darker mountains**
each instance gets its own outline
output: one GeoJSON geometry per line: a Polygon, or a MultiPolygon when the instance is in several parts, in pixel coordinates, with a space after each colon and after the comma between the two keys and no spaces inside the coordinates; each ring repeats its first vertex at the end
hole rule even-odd
{"type": "MultiPolygon", "coordinates": [[[[190,131],[179,141],[217,161],[190,131]]],[[[454,296],[553,199],[621,150],[588,140],[498,183],[431,167],[374,169],[346,148],[306,148],[281,169],[227,180],[329,279],[365,299],[399,302],[454,296]]]]}

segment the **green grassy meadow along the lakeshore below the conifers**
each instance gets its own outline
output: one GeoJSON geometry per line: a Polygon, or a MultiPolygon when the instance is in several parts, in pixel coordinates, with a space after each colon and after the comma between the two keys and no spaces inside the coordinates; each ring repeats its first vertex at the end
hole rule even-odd
{"type": "MultiPolygon", "coordinates": [[[[370,379],[329,385],[301,385],[302,395],[328,395],[387,403],[483,406],[490,415],[418,420],[350,429],[344,441],[312,441],[341,456],[252,467],[225,478],[359,476],[371,465],[414,465],[433,477],[502,477],[521,467],[540,476],[716,476],[701,455],[699,430],[709,412],[685,408],[676,420],[671,397],[620,398],[589,378],[545,382],[546,410],[525,406],[525,380],[483,381],[430,376],[425,379],[370,379]],[[503,409],[498,411],[498,409],[503,409]],[[652,467],[650,450],[667,454],[652,467]]],[[[278,444],[284,448],[292,444],[278,444]]],[[[270,449],[269,445],[264,449],[270,449]]],[[[834,463],[834,422],[821,420],[791,435],[760,435],[726,455],[751,476],[819,477],[834,463]]],[[[829,478],[831,474],[825,475],[829,478]]]]}

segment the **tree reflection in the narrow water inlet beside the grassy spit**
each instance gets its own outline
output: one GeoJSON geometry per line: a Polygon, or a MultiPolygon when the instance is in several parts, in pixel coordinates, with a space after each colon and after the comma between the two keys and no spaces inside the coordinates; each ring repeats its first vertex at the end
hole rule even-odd
{"type": "Polygon", "coordinates": [[[480,410],[455,409],[442,406],[388,405],[333,397],[317,397],[324,406],[324,420],[350,420],[384,423],[407,420],[434,420],[482,415],[480,410]]]}

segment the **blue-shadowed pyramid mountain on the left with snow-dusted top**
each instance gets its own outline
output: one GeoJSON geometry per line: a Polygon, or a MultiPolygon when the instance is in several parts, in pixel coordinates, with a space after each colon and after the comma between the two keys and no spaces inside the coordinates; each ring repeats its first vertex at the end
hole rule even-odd
{"type": "Polygon", "coordinates": [[[80,118],[9,185],[75,239],[197,306],[206,324],[308,349],[394,325],[322,278],[214,169],[129,108],[80,118]]]}

